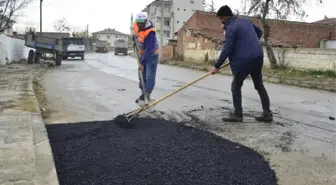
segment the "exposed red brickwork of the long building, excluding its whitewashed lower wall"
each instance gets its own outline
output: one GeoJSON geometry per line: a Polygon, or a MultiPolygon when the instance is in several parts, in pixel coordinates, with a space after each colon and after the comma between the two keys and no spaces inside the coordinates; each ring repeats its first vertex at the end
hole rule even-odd
{"type": "MultiPolygon", "coordinates": [[[[245,18],[263,28],[259,19],[245,18]]],[[[336,39],[336,26],[333,25],[280,20],[268,20],[268,22],[271,27],[270,41],[275,47],[320,48],[321,41],[336,39]]],[[[224,39],[223,25],[215,13],[197,11],[178,31],[178,46],[182,45],[186,29],[196,31],[216,42],[224,39]]]]}

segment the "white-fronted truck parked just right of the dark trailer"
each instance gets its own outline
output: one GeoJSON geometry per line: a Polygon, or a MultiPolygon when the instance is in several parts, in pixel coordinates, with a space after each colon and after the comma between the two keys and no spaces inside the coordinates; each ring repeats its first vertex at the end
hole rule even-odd
{"type": "Polygon", "coordinates": [[[69,57],[80,57],[82,60],[84,60],[85,44],[83,38],[67,37],[63,38],[62,40],[65,48],[63,53],[63,60],[69,57]]]}

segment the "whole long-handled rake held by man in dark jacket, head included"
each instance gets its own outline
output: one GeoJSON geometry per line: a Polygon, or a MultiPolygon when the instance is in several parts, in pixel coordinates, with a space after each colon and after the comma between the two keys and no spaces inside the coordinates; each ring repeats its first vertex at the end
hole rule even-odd
{"type": "MultiPolygon", "coordinates": [[[[229,65],[229,63],[223,64],[220,69],[223,69],[224,67],[226,67],[228,65],[229,65]]],[[[194,83],[196,83],[196,82],[198,82],[198,81],[200,81],[200,80],[208,77],[209,75],[211,75],[211,72],[209,72],[209,73],[207,73],[207,74],[199,77],[198,79],[196,79],[196,80],[194,80],[192,82],[189,82],[189,83],[183,85],[182,87],[180,87],[179,89],[175,90],[174,92],[168,93],[168,94],[164,95],[163,97],[159,98],[158,100],[155,100],[154,102],[152,102],[150,104],[144,105],[143,107],[140,107],[140,108],[138,108],[138,109],[136,109],[134,111],[131,111],[129,113],[117,116],[114,119],[114,121],[115,121],[115,123],[117,123],[118,125],[120,125],[120,127],[122,127],[122,128],[132,128],[134,126],[133,123],[131,122],[132,119],[135,118],[136,116],[138,116],[141,112],[143,112],[143,111],[147,110],[148,108],[150,108],[150,107],[152,107],[152,106],[154,106],[154,105],[162,102],[163,100],[165,100],[165,99],[169,98],[170,96],[172,96],[172,95],[174,95],[174,94],[182,91],[183,89],[185,89],[185,88],[193,85],[194,83]]]]}

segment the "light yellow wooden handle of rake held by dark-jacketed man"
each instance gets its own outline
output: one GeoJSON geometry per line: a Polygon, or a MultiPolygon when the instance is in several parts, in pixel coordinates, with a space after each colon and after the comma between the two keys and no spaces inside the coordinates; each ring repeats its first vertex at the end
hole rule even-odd
{"type": "MultiPolygon", "coordinates": [[[[226,64],[222,65],[222,66],[220,67],[220,69],[223,69],[224,67],[226,67],[226,66],[228,66],[228,65],[229,65],[229,63],[226,63],[226,64]]],[[[200,81],[200,80],[203,80],[204,78],[208,77],[209,75],[211,75],[211,72],[209,72],[209,73],[207,73],[207,74],[201,76],[200,78],[198,78],[198,79],[196,79],[196,80],[194,80],[194,81],[192,81],[192,82],[189,82],[189,83],[183,85],[181,88],[175,90],[174,92],[171,92],[171,93],[169,93],[169,94],[167,94],[167,95],[161,97],[160,99],[155,100],[154,102],[152,102],[152,103],[150,103],[150,104],[148,104],[148,105],[145,105],[144,107],[140,107],[140,108],[138,108],[137,110],[135,110],[135,111],[133,111],[133,112],[130,112],[130,113],[128,113],[128,114],[132,114],[132,113],[134,113],[135,115],[137,115],[137,114],[139,114],[140,112],[147,110],[148,108],[150,108],[150,107],[152,107],[152,106],[154,106],[154,105],[156,105],[156,104],[162,102],[163,100],[169,98],[170,96],[173,96],[174,94],[176,94],[176,93],[182,91],[183,89],[185,89],[185,88],[187,88],[187,87],[193,85],[194,83],[196,83],[196,82],[198,82],[198,81],[200,81]]]]}

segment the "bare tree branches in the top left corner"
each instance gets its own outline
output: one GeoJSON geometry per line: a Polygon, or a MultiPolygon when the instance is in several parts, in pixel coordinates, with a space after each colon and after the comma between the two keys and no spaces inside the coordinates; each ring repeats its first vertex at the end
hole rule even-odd
{"type": "Polygon", "coordinates": [[[11,28],[18,12],[31,2],[32,0],[0,0],[0,33],[11,28]]]}

